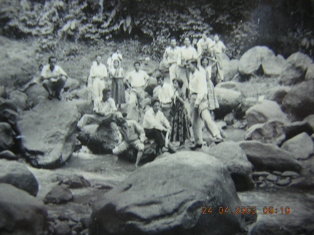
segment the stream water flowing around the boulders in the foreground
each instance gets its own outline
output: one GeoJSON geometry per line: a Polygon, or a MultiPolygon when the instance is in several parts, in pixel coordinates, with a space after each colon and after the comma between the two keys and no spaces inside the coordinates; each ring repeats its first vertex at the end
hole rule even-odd
{"type": "MultiPolygon", "coordinates": [[[[230,139],[238,138],[238,132],[227,130],[230,139]]],[[[238,139],[237,139],[238,140],[238,139]]],[[[240,140],[240,139],[239,139],[240,140]]],[[[35,169],[29,167],[39,182],[37,198],[43,199],[51,187],[58,183],[58,175],[82,175],[87,179],[91,187],[71,189],[73,201],[67,204],[47,204],[50,216],[57,217],[65,215],[79,221],[81,217],[89,216],[92,205],[97,202],[103,194],[124,180],[134,170],[134,163],[124,159],[117,159],[110,154],[91,154],[85,147],[78,153],[73,153],[67,165],[55,170],[35,169]]],[[[256,206],[257,223],[282,225],[280,231],[289,231],[292,234],[302,234],[307,227],[314,224],[314,189],[297,190],[284,188],[280,190],[252,190],[238,192],[242,202],[238,205],[247,207],[256,206]],[[267,207],[267,213],[263,213],[263,207],[267,207]],[[273,207],[273,213],[269,213],[269,207],[273,207]],[[280,207],[283,207],[281,213],[280,207]],[[289,207],[289,213],[284,210],[289,207]],[[277,209],[277,210],[276,210],[277,209]],[[277,212],[277,213],[276,213],[277,212]]],[[[235,211],[235,208],[231,208],[235,211]]],[[[265,212],[265,209],[264,209],[265,212]]],[[[248,226],[248,231],[255,225],[248,226]]],[[[275,227],[276,227],[275,226],[275,227]]],[[[277,226],[278,227],[278,226],[277,226]]],[[[274,230],[275,232],[275,230],[274,230]]],[[[268,234],[265,232],[264,234],[268,234]]],[[[276,233],[274,233],[276,234],[276,233]]],[[[284,233],[282,233],[284,234],[284,233]]],[[[287,233],[289,234],[289,233],[287,233]]]]}

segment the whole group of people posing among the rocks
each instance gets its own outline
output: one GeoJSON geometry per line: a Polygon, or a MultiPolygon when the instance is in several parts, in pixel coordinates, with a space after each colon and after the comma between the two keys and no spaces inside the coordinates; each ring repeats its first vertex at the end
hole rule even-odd
{"type": "MultiPolygon", "coordinates": [[[[139,61],[134,62],[134,70],[125,74],[119,50],[108,58],[107,66],[102,63],[102,56],[96,55],[87,79],[87,93],[94,103],[94,113],[84,114],[78,121],[78,128],[91,123],[109,125],[116,122],[123,140],[112,152],[120,154],[129,147],[137,149],[136,166],[148,139],[155,140],[156,153],[175,151],[174,142],[184,145],[190,140],[191,126],[195,142],[192,149],[202,147],[203,124],[215,142],[223,141],[222,130],[216,126],[211,111],[219,108],[214,84],[224,79],[221,58],[225,49],[217,34],[212,40],[204,32],[197,49],[189,37],[184,39],[182,47],[177,46],[176,38],[172,37],[163,55],[163,62],[169,68],[169,79],[159,71],[155,74],[159,85],[154,88],[149,107],[144,107],[144,99],[150,77],[140,69],[139,61]],[[217,74],[212,78],[214,67],[217,74]],[[129,91],[128,101],[125,87],[129,91]],[[127,103],[124,116],[119,112],[123,103],[127,103]]],[[[55,57],[50,57],[48,63],[41,70],[43,86],[49,99],[55,95],[61,100],[67,74],[56,65],[55,57]]]]}

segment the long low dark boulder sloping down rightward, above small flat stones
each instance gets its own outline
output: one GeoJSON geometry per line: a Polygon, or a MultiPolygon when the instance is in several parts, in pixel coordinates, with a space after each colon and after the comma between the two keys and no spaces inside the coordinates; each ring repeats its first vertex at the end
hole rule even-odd
{"type": "Polygon", "coordinates": [[[264,144],[256,140],[238,143],[257,171],[292,170],[300,173],[302,169],[300,163],[295,160],[294,154],[280,149],[275,144],[264,144]]]}

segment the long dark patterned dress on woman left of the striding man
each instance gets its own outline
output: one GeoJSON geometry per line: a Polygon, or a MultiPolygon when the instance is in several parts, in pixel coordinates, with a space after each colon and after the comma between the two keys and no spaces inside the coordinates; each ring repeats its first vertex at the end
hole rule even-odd
{"type": "MultiPolygon", "coordinates": [[[[185,100],[185,94],[183,94],[181,90],[176,92],[178,92],[179,97],[185,100]]],[[[173,119],[170,141],[183,142],[190,138],[187,110],[185,109],[184,105],[176,98],[176,96],[174,96],[173,99],[174,100],[171,107],[173,119]]]]}

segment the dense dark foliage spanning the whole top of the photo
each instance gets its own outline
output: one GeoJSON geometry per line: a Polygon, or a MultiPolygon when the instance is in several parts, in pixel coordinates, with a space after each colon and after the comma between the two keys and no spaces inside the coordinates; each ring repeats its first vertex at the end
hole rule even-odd
{"type": "Polygon", "coordinates": [[[142,52],[159,57],[170,35],[197,40],[203,30],[219,33],[227,54],[268,45],[290,55],[313,56],[313,0],[0,0],[0,33],[38,37],[43,50],[60,40],[140,39],[142,52]],[[300,47],[300,48],[299,48],[300,47]]]}

